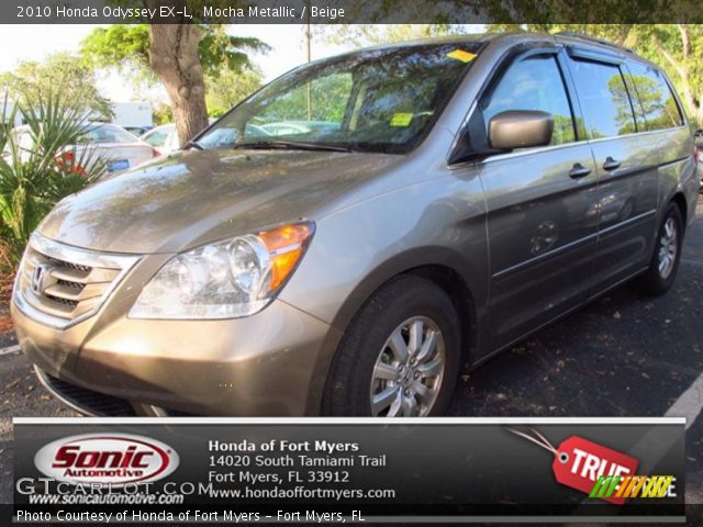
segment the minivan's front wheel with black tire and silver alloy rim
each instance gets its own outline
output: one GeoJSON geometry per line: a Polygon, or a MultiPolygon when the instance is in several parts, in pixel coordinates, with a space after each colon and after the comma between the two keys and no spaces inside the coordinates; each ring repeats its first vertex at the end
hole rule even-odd
{"type": "Polygon", "coordinates": [[[327,378],[322,413],[440,415],[449,405],[459,359],[460,332],[451,300],[429,280],[398,277],[349,324],[327,378]]]}

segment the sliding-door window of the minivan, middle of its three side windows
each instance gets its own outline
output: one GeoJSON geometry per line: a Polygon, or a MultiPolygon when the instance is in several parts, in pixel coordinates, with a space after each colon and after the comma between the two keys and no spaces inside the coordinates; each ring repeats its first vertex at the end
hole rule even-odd
{"type": "Polygon", "coordinates": [[[616,137],[637,131],[620,67],[572,60],[571,68],[590,138],[616,137]]]}

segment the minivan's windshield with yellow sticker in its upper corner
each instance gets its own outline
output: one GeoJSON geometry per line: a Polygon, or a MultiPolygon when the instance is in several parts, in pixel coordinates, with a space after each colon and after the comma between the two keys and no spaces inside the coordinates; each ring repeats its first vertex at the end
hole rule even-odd
{"type": "Polygon", "coordinates": [[[371,49],[295,69],[197,138],[202,148],[405,153],[431,127],[480,43],[371,49]]]}

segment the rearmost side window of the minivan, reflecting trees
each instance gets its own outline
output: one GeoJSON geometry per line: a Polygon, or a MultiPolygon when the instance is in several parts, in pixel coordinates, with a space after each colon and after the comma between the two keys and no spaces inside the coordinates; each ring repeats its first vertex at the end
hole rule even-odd
{"type": "Polygon", "coordinates": [[[650,66],[631,63],[629,71],[637,91],[646,130],[665,130],[683,125],[681,109],[661,72],[650,66]]]}

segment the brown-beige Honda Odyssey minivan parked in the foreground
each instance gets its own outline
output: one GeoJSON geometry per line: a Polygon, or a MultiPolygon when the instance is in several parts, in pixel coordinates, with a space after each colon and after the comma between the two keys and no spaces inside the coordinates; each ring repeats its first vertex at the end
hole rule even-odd
{"type": "Polygon", "coordinates": [[[662,72],[585,37],[320,60],[62,201],[14,324],[87,414],[442,413],[460,365],[629,279],[670,288],[693,148],[662,72]]]}

